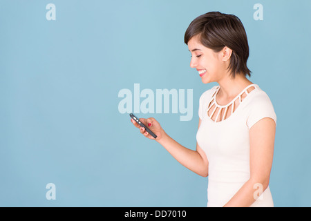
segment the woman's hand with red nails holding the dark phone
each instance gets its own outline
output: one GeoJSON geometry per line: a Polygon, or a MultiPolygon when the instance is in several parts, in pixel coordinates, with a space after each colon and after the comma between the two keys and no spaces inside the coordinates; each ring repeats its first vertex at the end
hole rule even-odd
{"type": "Polygon", "coordinates": [[[159,141],[162,136],[164,135],[164,131],[160,125],[160,123],[154,119],[153,117],[150,118],[140,118],[140,122],[142,124],[146,125],[154,134],[157,135],[157,138],[155,139],[153,136],[151,136],[144,127],[140,126],[138,122],[135,122],[135,120],[131,119],[131,122],[134,124],[135,127],[140,129],[140,133],[142,133],[145,137],[151,139],[151,140],[156,140],[159,141]]]}

